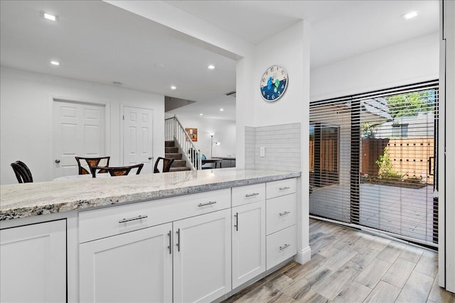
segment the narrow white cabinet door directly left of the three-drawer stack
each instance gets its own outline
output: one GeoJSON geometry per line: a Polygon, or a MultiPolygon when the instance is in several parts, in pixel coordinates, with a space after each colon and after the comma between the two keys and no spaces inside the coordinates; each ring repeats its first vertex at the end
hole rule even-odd
{"type": "Polygon", "coordinates": [[[265,271],[265,202],[232,208],[232,288],[265,271]]]}

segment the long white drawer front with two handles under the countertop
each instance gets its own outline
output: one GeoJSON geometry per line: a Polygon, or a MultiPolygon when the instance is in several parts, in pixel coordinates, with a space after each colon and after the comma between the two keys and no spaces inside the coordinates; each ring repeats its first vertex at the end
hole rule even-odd
{"type": "Polygon", "coordinates": [[[81,211],[79,243],[230,208],[230,189],[81,211]]]}

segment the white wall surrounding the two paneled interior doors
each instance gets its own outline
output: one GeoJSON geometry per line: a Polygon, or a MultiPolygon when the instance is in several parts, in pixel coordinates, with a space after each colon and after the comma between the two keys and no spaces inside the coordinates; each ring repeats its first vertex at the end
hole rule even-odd
{"type": "Polygon", "coordinates": [[[33,181],[52,180],[52,96],[109,104],[111,165],[120,160],[120,104],[154,109],[154,157],[164,156],[164,96],[1,67],[1,184],[17,183],[11,162],[23,160],[33,181]]]}

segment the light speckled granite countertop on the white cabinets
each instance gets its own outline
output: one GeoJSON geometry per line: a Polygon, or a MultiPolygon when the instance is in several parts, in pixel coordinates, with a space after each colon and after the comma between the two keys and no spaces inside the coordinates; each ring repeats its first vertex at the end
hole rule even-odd
{"type": "Polygon", "coordinates": [[[274,170],[196,170],[0,186],[0,221],[300,177],[274,170]]]}

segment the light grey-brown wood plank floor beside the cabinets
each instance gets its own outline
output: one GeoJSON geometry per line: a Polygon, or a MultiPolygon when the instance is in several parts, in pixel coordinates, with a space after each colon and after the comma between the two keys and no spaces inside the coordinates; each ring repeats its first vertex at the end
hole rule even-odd
{"type": "Polygon", "coordinates": [[[437,252],[310,219],[311,261],[291,262],[228,302],[455,303],[437,285],[437,252]]]}

